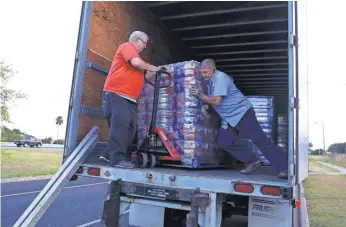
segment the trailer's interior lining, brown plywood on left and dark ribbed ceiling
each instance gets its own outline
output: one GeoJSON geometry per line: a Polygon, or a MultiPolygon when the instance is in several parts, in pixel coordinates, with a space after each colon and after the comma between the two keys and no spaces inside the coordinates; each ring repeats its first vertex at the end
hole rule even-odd
{"type": "Polygon", "coordinates": [[[94,125],[100,127],[101,142],[107,142],[102,89],[117,47],[134,30],[151,39],[143,53],[146,61],[164,65],[213,58],[245,95],[274,96],[276,113],[287,115],[287,2],[94,2],[89,12],[87,61],[78,80],[81,108],[69,114],[74,121],[69,127],[76,130],[68,129],[65,156],[94,125]]]}

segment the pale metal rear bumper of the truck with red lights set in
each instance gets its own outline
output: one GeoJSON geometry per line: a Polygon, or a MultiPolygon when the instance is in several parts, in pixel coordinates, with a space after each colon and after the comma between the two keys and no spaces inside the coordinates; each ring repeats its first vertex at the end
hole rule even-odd
{"type": "MultiPolygon", "coordinates": [[[[83,164],[78,175],[91,176],[122,182],[132,185],[142,185],[143,189],[160,188],[165,193],[177,190],[194,191],[199,188],[203,192],[215,192],[223,194],[234,194],[244,196],[260,196],[290,200],[292,198],[292,187],[288,186],[287,180],[278,179],[275,175],[265,174],[270,171],[263,167],[259,172],[250,175],[240,174],[239,170],[216,169],[216,170],[190,170],[178,168],[148,168],[148,169],[121,169],[104,165],[83,164]],[[98,176],[89,174],[88,169],[97,169],[98,176]],[[240,192],[236,189],[238,184],[247,184],[253,187],[251,192],[240,192]],[[265,186],[278,187],[280,195],[269,195],[262,192],[265,186]]],[[[139,186],[138,186],[139,187],[139,186]]]]}

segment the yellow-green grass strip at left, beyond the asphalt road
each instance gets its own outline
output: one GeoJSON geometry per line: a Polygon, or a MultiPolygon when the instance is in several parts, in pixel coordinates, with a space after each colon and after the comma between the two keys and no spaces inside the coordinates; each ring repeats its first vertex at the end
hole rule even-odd
{"type": "Polygon", "coordinates": [[[1,179],[55,174],[62,150],[47,148],[1,149],[1,179]]]}

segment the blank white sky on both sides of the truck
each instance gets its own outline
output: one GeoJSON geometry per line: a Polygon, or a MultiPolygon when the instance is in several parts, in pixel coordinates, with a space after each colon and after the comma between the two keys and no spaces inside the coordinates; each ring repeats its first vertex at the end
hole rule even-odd
{"type": "MultiPolygon", "coordinates": [[[[10,128],[38,138],[65,135],[81,2],[2,1],[0,60],[18,73],[9,86],[28,95],[11,108],[10,128]]],[[[346,21],[339,3],[308,2],[309,140],[322,148],[346,141],[346,21]]]]}

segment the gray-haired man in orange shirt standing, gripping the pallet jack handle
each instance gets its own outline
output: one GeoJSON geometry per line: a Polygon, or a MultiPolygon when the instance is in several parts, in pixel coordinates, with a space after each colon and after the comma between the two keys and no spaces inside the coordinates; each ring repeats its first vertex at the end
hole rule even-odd
{"type": "Polygon", "coordinates": [[[125,157],[136,133],[137,100],[144,84],[144,71],[159,70],[139,56],[148,41],[146,33],[133,32],[129,42],[118,47],[105,81],[102,109],[108,120],[109,139],[100,159],[112,166],[134,168],[125,157]]]}

